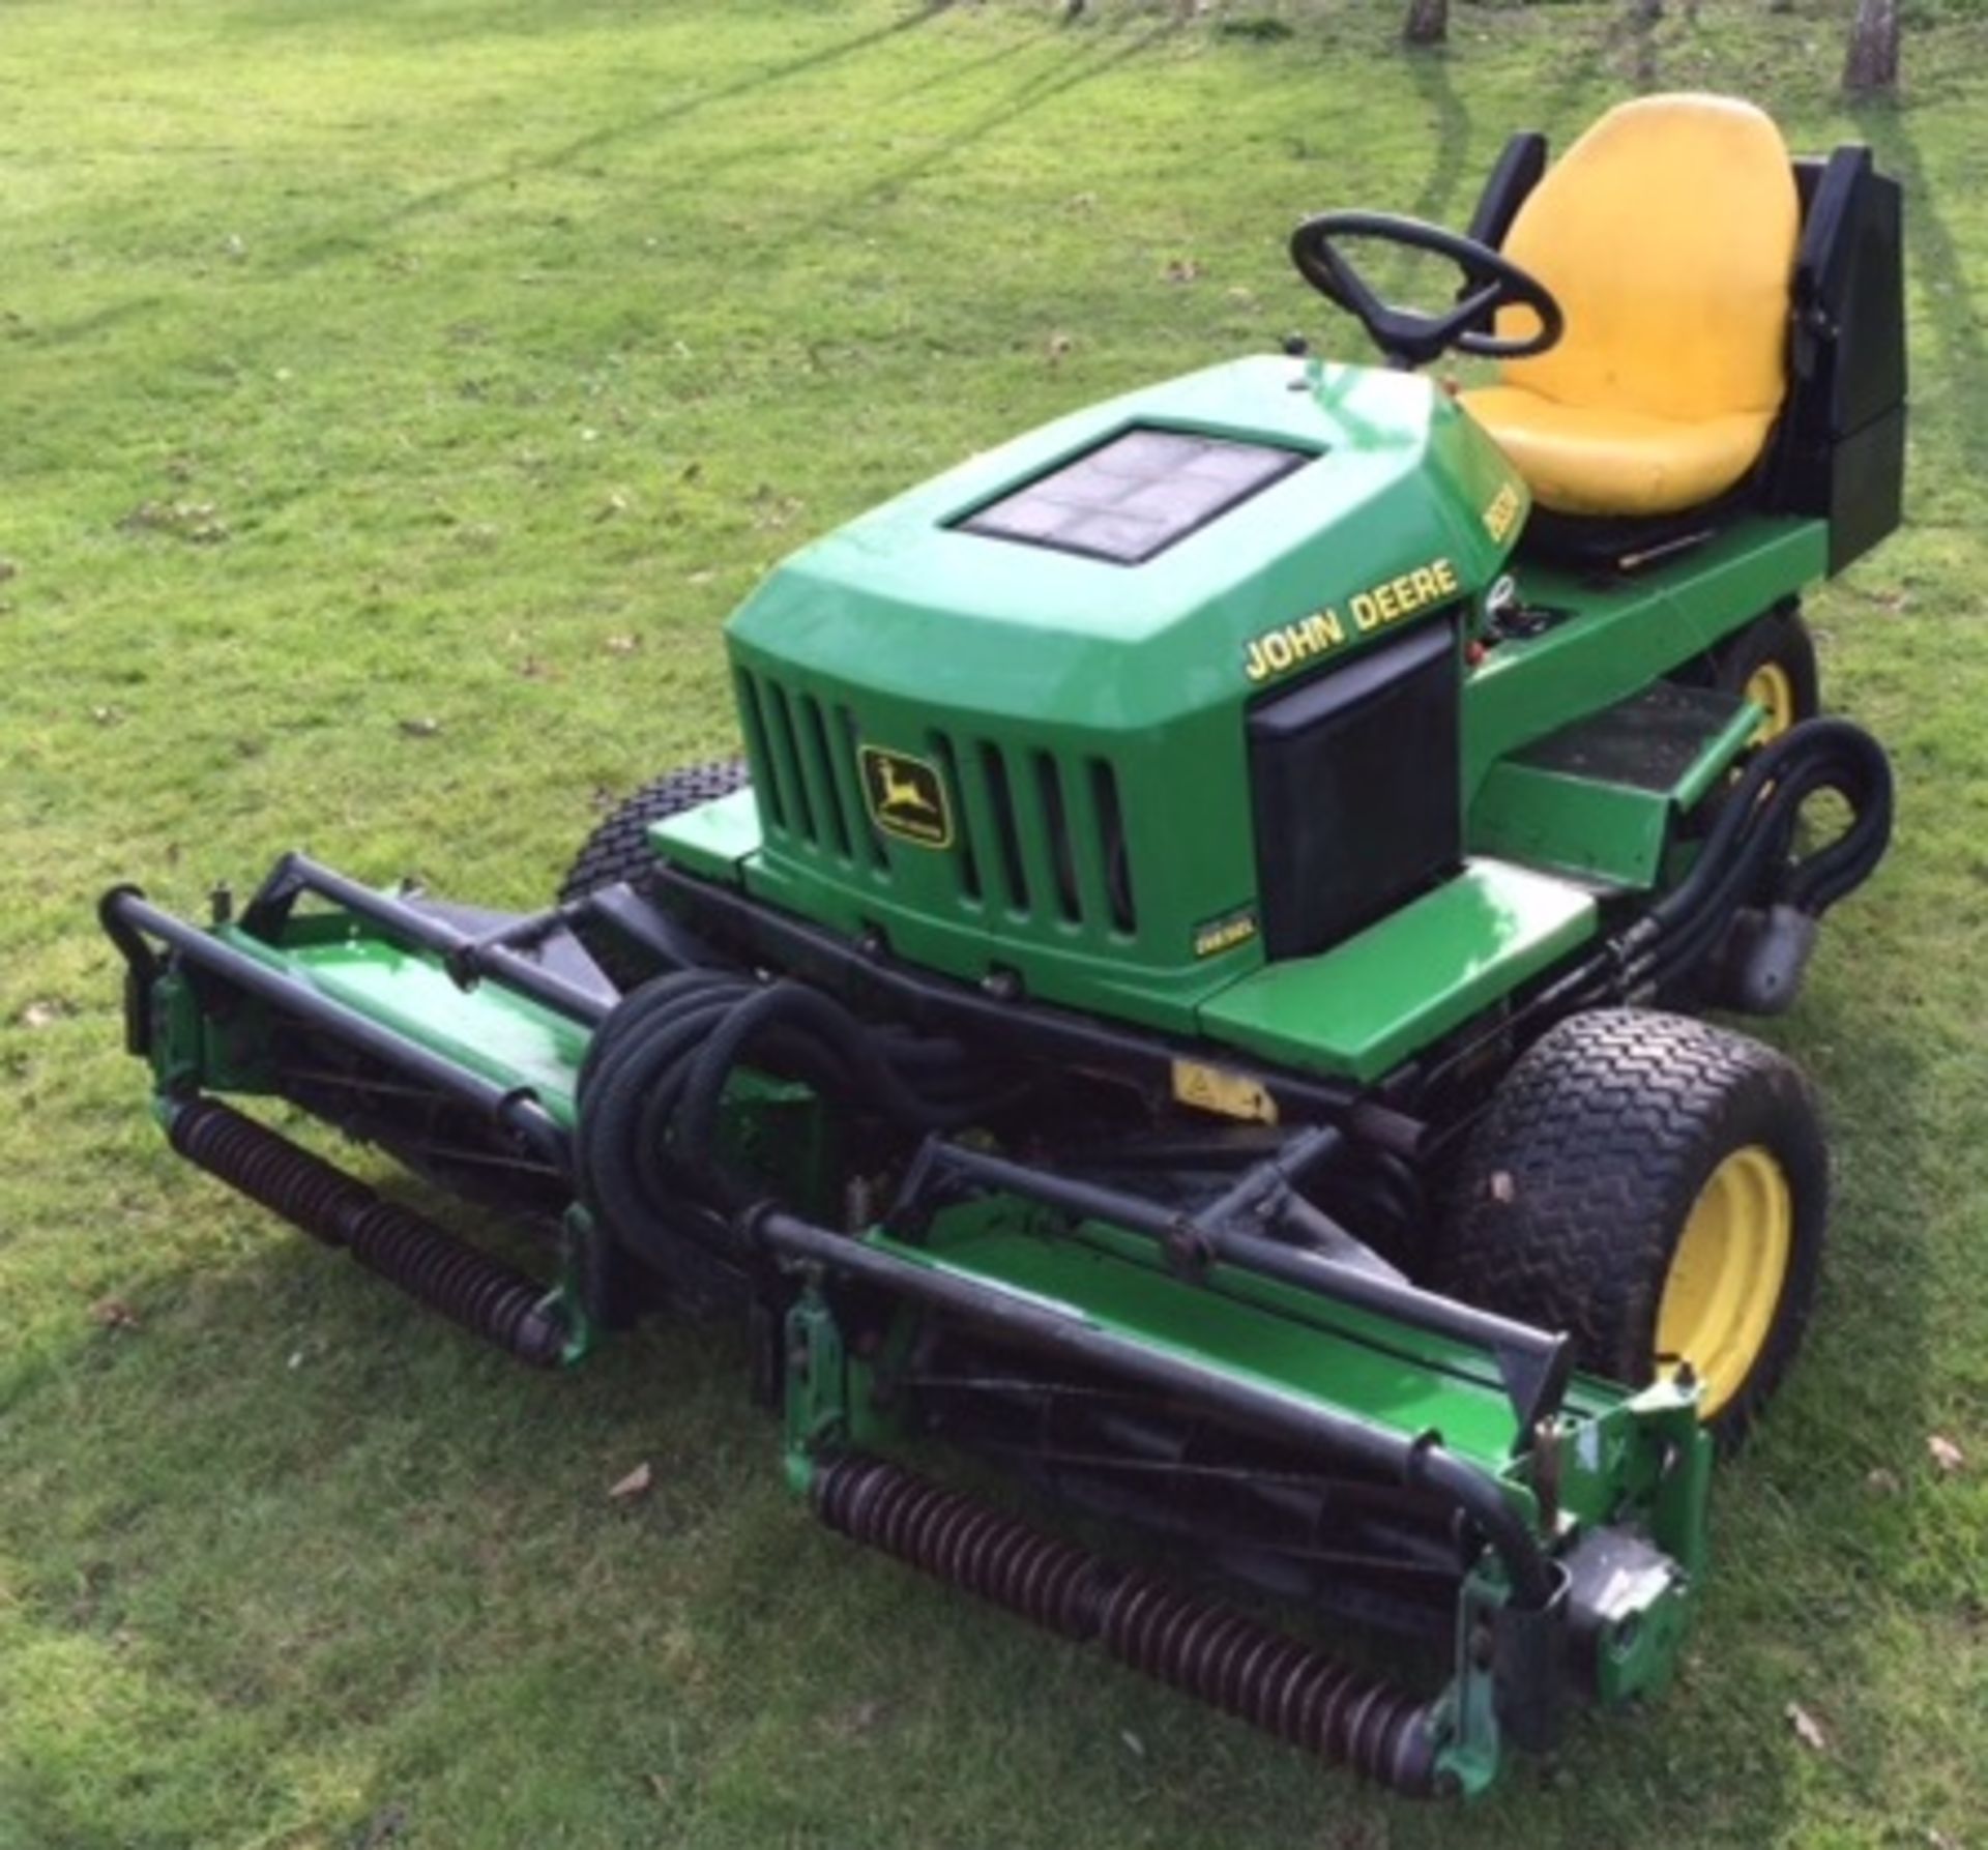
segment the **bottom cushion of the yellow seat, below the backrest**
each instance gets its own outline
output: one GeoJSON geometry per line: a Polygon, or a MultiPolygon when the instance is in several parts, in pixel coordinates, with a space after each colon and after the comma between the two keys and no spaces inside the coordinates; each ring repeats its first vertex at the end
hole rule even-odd
{"type": "Polygon", "coordinates": [[[1563,405],[1523,385],[1463,393],[1557,515],[1668,515],[1724,495],[1759,457],[1773,411],[1652,417],[1648,411],[1563,405]]]}

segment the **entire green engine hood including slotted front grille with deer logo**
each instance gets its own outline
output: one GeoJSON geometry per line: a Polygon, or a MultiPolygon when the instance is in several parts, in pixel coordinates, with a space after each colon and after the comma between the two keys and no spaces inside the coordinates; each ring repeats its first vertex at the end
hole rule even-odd
{"type": "Polygon", "coordinates": [[[759,586],[728,626],[753,795],[660,845],[930,968],[1183,1025],[1260,962],[1246,707],[1479,594],[1525,509],[1409,374],[1262,358],[1093,405],[759,586]],[[1127,431],[1296,461],[1141,564],[962,529],[1127,431]]]}

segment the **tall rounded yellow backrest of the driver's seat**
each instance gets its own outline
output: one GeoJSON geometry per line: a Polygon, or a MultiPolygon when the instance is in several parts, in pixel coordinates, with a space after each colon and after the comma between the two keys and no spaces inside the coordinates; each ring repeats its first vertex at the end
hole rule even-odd
{"type": "MultiPolygon", "coordinates": [[[[1505,238],[1567,312],[1501,378],[1565,405],[1704,419],[1787,391],[1801,205],[1781,131],[1751,103],[1654,95],[1610,109],[1533,189],[1505,238]]],[[[1505,310],[1511,332],[1533,326],[1505,310]]]]}

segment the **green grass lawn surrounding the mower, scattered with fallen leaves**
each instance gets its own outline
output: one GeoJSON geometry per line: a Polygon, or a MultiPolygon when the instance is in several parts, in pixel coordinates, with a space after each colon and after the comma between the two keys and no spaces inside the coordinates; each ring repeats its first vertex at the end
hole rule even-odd
{"type": "Polygon", "coordinates": [[[1396,12],[0,0],[4,1850],[1988,1842],[1988,16],[1916,8],[1905,105],[1845,113],[1837,0],[1459,6],[1421,58],[1396,12]],[[1835,1244],[1660,1707],[1471,1814],[1374,1798],[821,1534],[730,1335],[531,1377],[165,1153],[105,884],[308,843],[541,902],[728,745],[785,548],[1350,344],[1298,213],[1461,223],[1509,129],[1638,87],[1877,143],[1916,370],[1910,529],[1811,608],[1903,781],[1775,1029],[1835,1244]]]}

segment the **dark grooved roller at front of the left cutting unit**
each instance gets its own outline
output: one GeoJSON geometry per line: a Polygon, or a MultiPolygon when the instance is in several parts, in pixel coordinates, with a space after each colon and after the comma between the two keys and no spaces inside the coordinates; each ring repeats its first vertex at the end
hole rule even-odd
{"type": "Polygon", "coordinates": [[[280,1214],[368,1272],[441,1311],[471,1335],[535,1367],[553,1367],[565,1329],[545,1308],[545,1286],[501,1266],[412,1208],[217,1099],[179,1107],[167,1139],[189,1162],[280,1214]]]}

